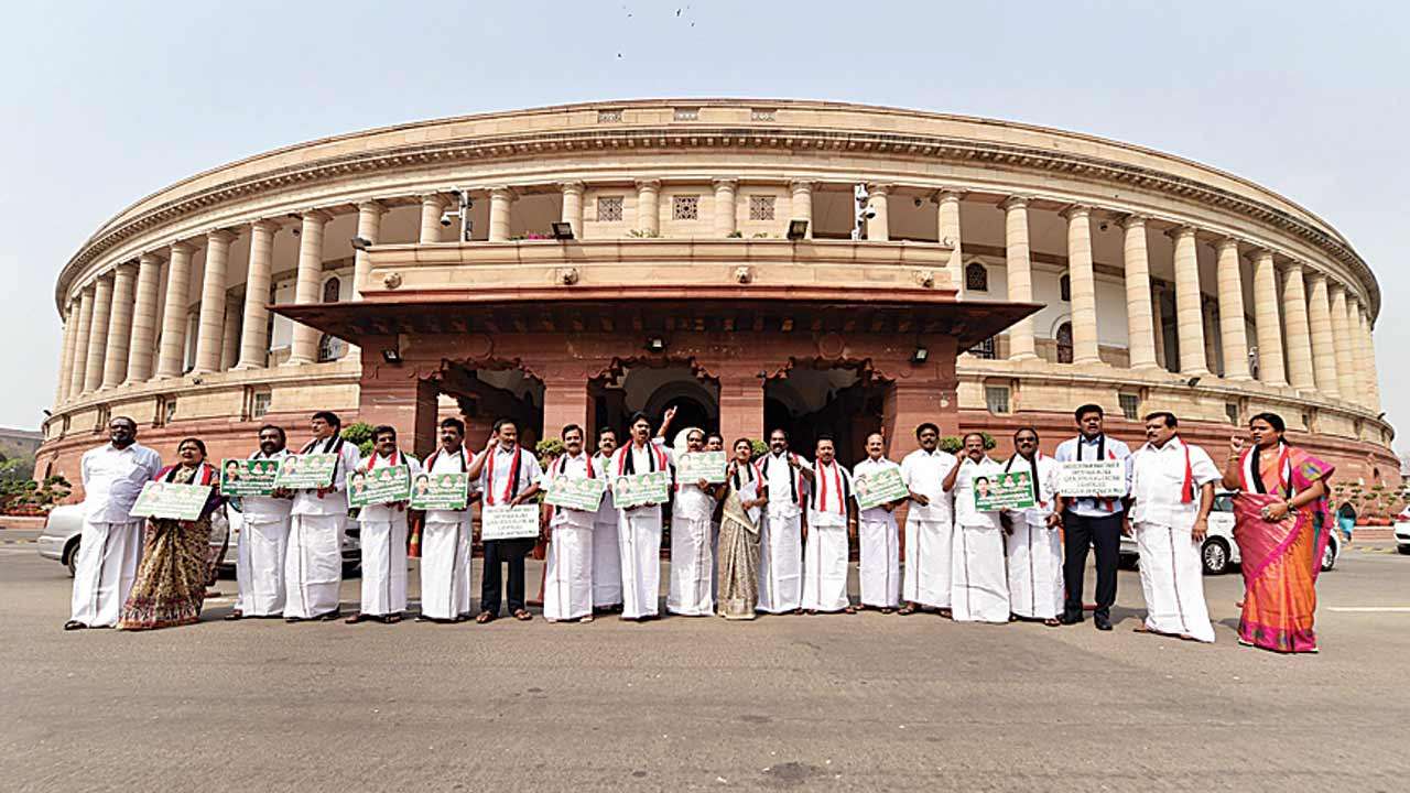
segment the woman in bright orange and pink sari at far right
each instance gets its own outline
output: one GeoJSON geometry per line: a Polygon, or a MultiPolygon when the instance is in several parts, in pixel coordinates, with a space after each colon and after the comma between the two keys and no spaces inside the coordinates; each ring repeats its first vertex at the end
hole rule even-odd
{"type": "Polygon", "coordinates": [[[1230,442],[1224,487],[1234,498],[1234,540],[1244,569],[1239,643],[1275,652],[1317,652],[1317,573],[1332,531],[1327,508],[1332,467],[1283,440],[1276,413],[1248,422],[1253,447],[1230,442]]]}

